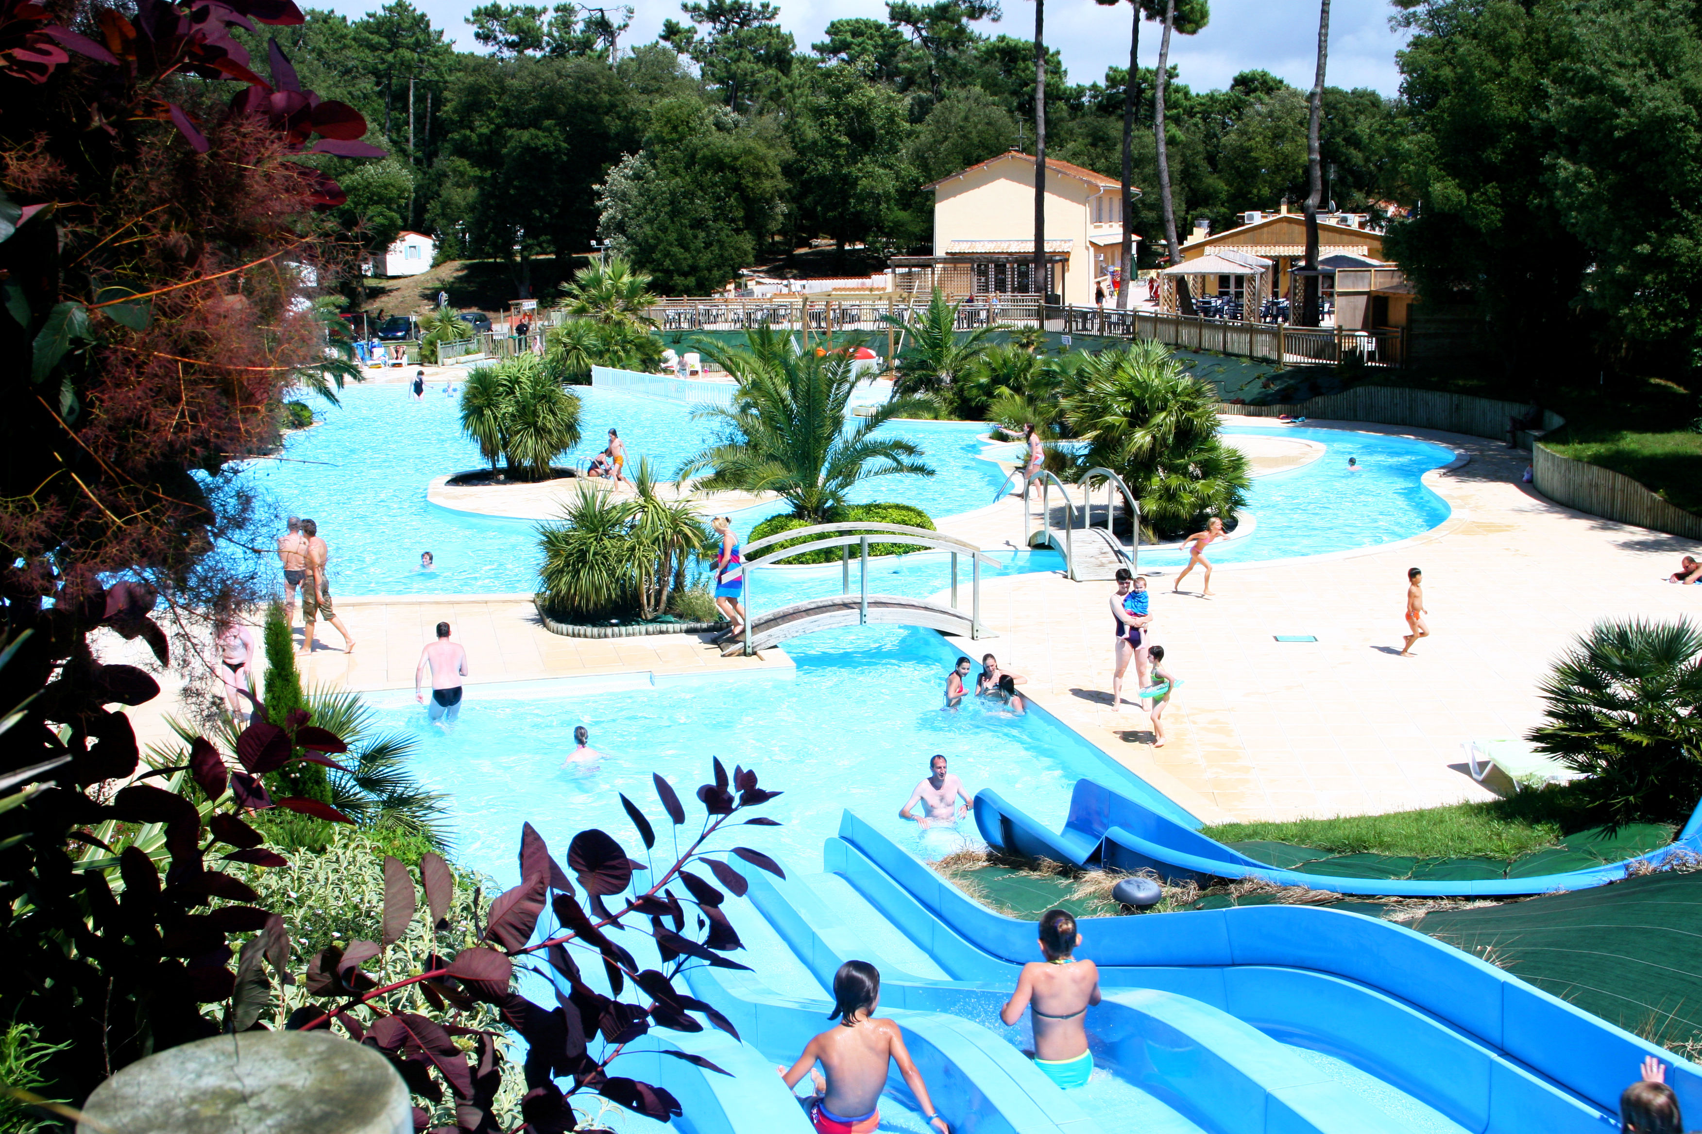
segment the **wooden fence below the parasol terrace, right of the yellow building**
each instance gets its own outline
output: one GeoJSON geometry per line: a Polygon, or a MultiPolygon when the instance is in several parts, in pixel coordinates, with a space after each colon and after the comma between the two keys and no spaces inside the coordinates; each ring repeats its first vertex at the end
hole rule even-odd
{"type": "Polygon", "coordinates": [[[1278,366],[1334,364],[1353,355],[1379,369],[1396,369],[1406,362],[1406,337],[1401,330],[1287,326],[1108,308],[1062,308],[1062,313],[1064,330],[1072,335],[1156,338],[1181,350],[1215,350],[1278,366]]]}

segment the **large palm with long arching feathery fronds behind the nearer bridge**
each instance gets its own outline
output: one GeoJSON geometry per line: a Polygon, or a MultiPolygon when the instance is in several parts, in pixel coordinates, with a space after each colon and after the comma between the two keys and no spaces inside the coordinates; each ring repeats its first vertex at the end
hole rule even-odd
{"type": "Polygon", "coordinates": [[[793,515],[820,524],[866,479],[934,474],[917,459],[922,456],[917,445],[873,437],[911,403],[888,401],[871,417],[846,425],[846,406],[858,384],[849,350],[800,352],[790,337],[771,332],[749,338],[744,350],[710,352],[739,383],[739,393],[732,406],[694,415],[720,422],[725,439],[686,459],[679,478],[713,469],[703,488],[774,491],[793,515]]]}

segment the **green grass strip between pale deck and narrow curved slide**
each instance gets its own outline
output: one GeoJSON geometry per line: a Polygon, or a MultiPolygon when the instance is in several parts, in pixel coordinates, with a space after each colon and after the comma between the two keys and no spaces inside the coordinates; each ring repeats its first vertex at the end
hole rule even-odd
{"type": "Polygon", "coordinates": [[[1566,787],[1522,791],[1510,799],[1448,808],[1353,814],[1285,823],[1219,823],[1200,828],[1220,843],[1276,842],[1343,855],[1379,853],[1416,859],[1513,859],[1554,847],[1562,835],[1590,826],[1566,787]]]}

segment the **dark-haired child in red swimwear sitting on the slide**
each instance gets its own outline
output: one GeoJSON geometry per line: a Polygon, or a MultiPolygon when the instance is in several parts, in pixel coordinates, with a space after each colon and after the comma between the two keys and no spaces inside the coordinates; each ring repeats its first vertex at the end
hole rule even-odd
{"type": "MultiPolygon", "coordinates": [[[[1074,921],[1071,927],[1074,932],[1074,921]]],[[[834,972],[834,1010],[827,1015],[829,1020],[839,1020],[839,1027],[805,1044],[790,1071],[776,1071],[788,1088],[797,1086],[807,1071],[812,1073],[815,1095],[798,1102],[819,1134],[870,1134],[880,1125],[880,1091],[887,1086],[887,1061],[892,1059],[928,1122],[940,1134],[951,1134],[928,1097],[921,1071],[911,1061],[904,1032],[892,1020],[873,1018],[878,1003],[880,969],[868,961],[846,961],[834,972]],[[825,1080],[814,1074],[817,1061],[827,1071],[825,1080]]]]}

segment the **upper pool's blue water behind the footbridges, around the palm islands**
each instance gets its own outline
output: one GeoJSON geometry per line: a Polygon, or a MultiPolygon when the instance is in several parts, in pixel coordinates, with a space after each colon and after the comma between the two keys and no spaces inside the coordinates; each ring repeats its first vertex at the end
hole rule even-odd
{"type": "MultiPolygon", "coordinates": [[[[711,437],[710,422],[694,422],[688,406],[660,398],[580,388],[585,440],[570,457],[603,447],[609,425],[621,430],[630,452],[648,456],[672,474],[679,462],[711,437]]],[[[478,468],[477,447],[461,437],[456,403],[427,394],[407,398],[402,386],[351,388],[342,405],[317,405],[318,425],[293,434],[283,459],[252,462],[247,476],[279,513],[318,520],[332,547],[332,580],[339,593],[512,593],[536,583],[536,547],[529,520],[478,517],[426,500],[432,478],[478,468]],[[420,571],[419,554],[431,551],[436,570],[420,571]]],[[[946,517],[982,508],[994,500],[1002,474],[980,459],[985,427],[955,422],[894,422],[887,434],[917,442],[936,469],[931,478],[890,476],[865,481],[858,500],[904,500],[929,515],[946,517]]],[[[1254,432],[1254,430],[1231,430],[1254,432]]],[[[1265,432],[1265,430],[1259,430],[1265,432]]],[[[1345,430],[1294,428],[1294,437],[1317,440],[1328,452],[1316,462],[1253,481],[1253,536],[1212,549],[1217,563],[1309,556],[1406,539],[1447,519],[1448,505],[1419,483],[1454,454],[1430,442],[1345,430]],[[1346,457],[1363,471],[1348,473],[1346,457]]],[[[1103,496],[1101,496],[1103,498],[1103,496]]],[[[749,532],[776,505],[734,515],[749,532]]],[[[1018,539],[1018,532],[1011,532],[1018,539]]],[[[1147,551],[1142,566],[1179,566],[1176,551],[1147,551]]],[[[1021,561],[1011,570],[1054,570],[1047,561],[1021,561]]],[[[914,566],[928,580],[943,568],[914,566]]],[[[837,573],[832,573],[837,585],[837,573]]],[[[764,595],[774,595],[768,581],[764,595]]],[[[825,576],[824,576],[825,578],[825,576]]],[[[790,587],[791,583],[786,583],[790,587]]],[[[912,580],[905,593],[928,593],[912,580]]],[[[887,588],[890,592],[890,588],[887,588]]],[[[827,593],[810,592],[810,593],[827,593]]],[[[766,605],[757,597],[754,605],[766,605]]]]}

